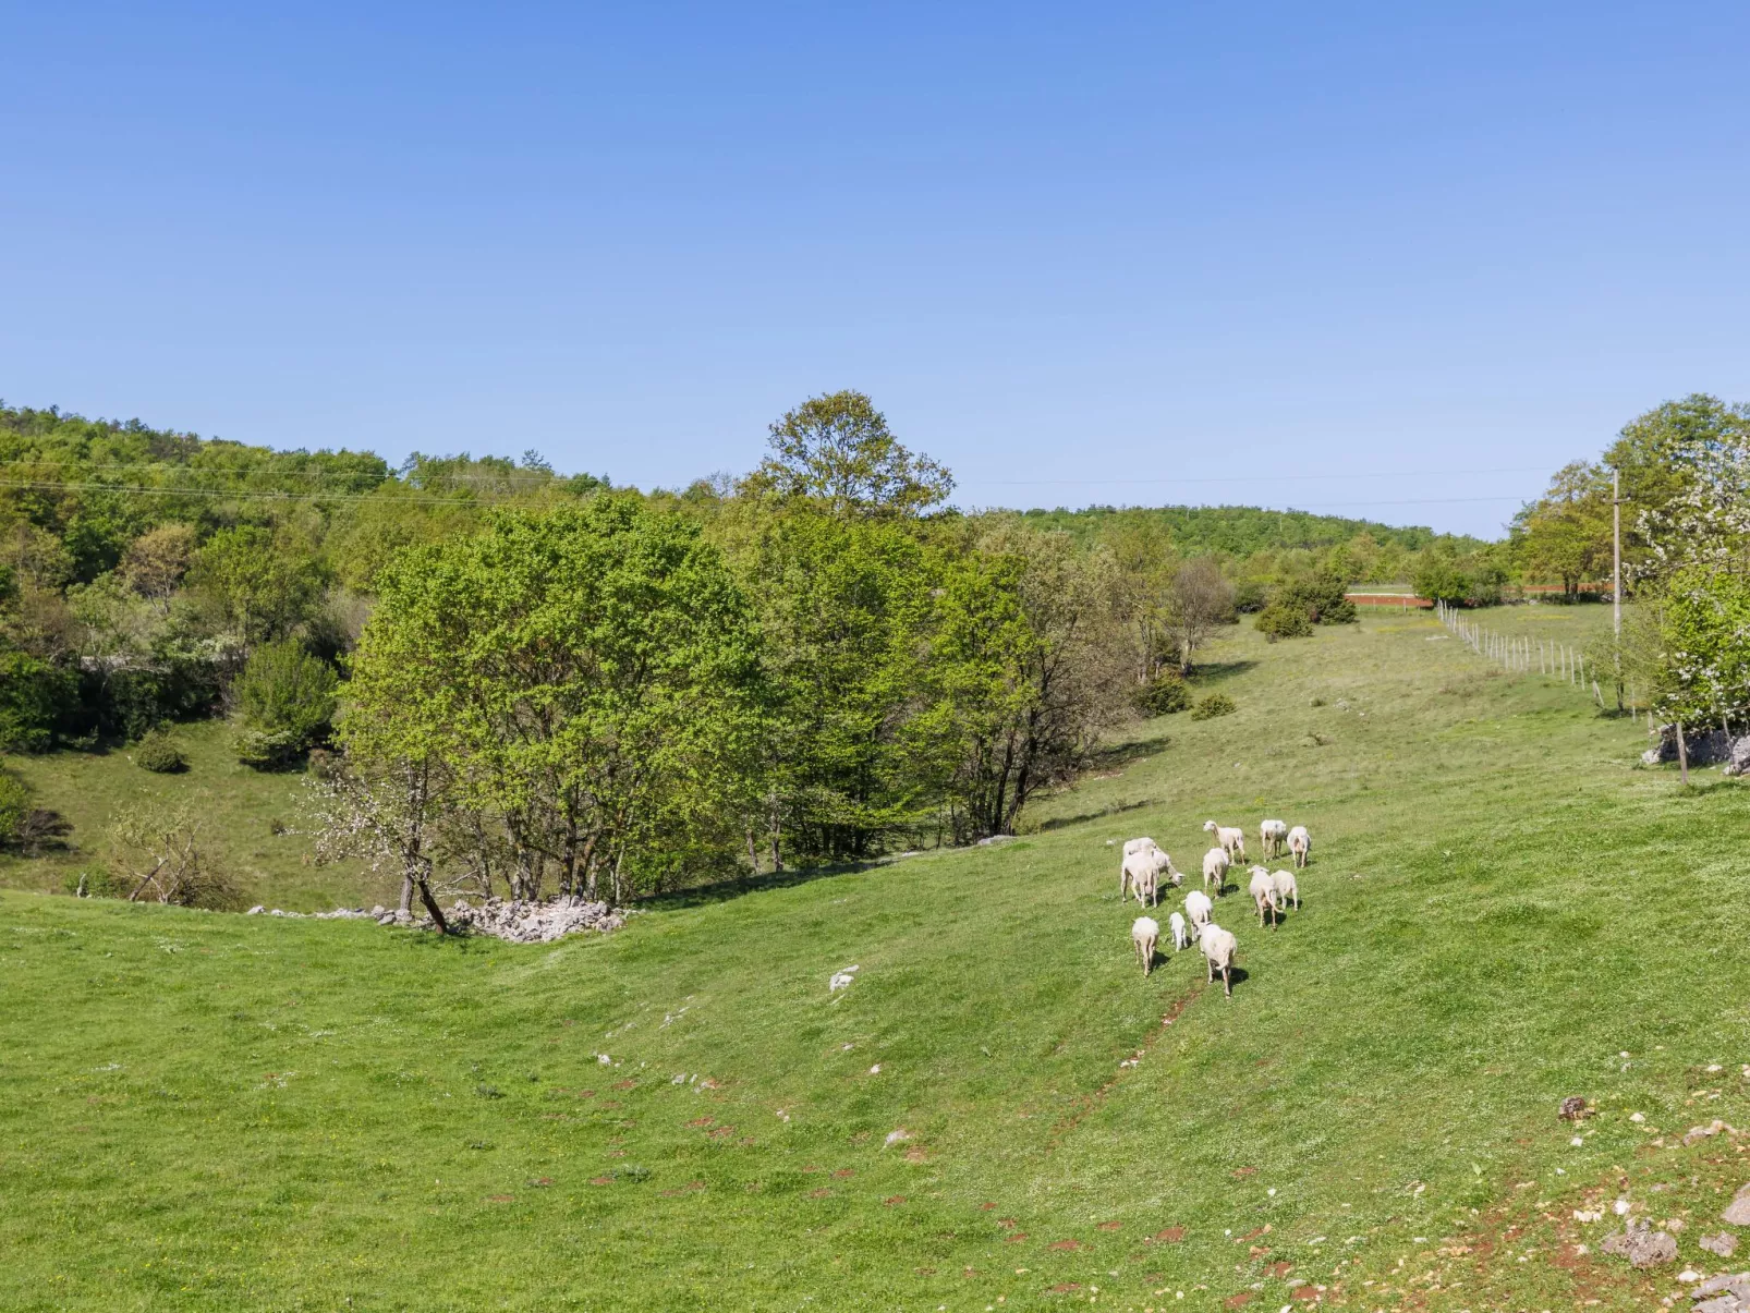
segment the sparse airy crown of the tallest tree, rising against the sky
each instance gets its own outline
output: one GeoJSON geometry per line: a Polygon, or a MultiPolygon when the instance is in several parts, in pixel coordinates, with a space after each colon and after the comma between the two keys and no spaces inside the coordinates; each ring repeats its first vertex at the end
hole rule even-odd
{"type": "Polygon", "coordinates": [[[863,392],[808,397],[772,425],[756,492],[816,497],[836,515],[917,515],[947,499],[954,476],[914,455],[863,392]]]}

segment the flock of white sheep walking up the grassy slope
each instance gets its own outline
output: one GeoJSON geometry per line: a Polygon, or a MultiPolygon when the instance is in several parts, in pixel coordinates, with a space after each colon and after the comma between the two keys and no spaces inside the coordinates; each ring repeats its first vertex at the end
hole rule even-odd
{"type": "MultiPolygon", "coordinates": [[[[1239,940],[1232,931],[1222,930],[1209,917],[1214,903],[1206,893],[1214,884],[1214,896],[1220,898],[1227,888],[1227,872],[1236,861],[1246,860],[1246,833],[1214,821],[1204,821],[1204,832],[1214,835],[1214,847],[1204,853],[1204,888],[1190,889],[1185,895],[1185,910],[1172,912],[1167,926],[1172,930],[1172,951],[1197,944],[1202,949],[1204,963],[1209,968],[1209,982],[1222,972],[1222,989],[1234,996],[1234,954],[1239,940]]],[[[1295,870],[1307,865],[1312,853],[1312,835],[1304,825],[1293,828],[1286,821],[1264,821],[1258,825],[1258,846],[1264,858],[1281,856],[1283,851],[1293,856],[1295,870]]],[[[1118,900],[1127,900],[1132,893],[1136,902],[1155,907],[1160,902],[1160,881],[1166,877],[1174,888],[1183,877],[1172,867],[1172,858],[1153,839],[1129,839],[1124,844],[1124,861],[1118,865],[1118,900]]],[[[1288,903],[1300,910],[1300,884],[1293,870],[1270,872],[1267,867],[1251,867],[1251,884],[1248,886],[1251,902],[1258,912],[1258,926],[1265,919],[1274,926],[1288,903]]],[[[1160,924],[1152,916],[1139,916],[1130,926],[1130,942],[1136,956],[1143,963],[1143,975],[1155,965],[1155,944],[1160,940],[1160,924]]]]}

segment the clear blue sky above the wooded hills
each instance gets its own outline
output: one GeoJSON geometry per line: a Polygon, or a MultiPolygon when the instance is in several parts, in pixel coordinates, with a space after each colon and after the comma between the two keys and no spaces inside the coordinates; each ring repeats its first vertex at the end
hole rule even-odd
{"type": "Polygon", "coordinates": [[[649,487],[858,387],[964,506],[1494,534],[1750,397],[1741,4],[0,18],[14,404],[649,487]]]}

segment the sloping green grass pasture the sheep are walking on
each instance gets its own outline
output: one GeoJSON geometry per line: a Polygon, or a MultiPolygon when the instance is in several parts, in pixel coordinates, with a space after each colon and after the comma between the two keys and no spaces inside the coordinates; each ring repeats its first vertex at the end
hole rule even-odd
{"type": "Polygon", "coordinates": [[[1237,714],[1015,842],[609,938],[0,895],[0,1308],[1645,1308],[1572,1217],[1619,1194],[1717,1271],[1750,795],[1428,616],[1209,662],[1237,714]],[[1144,980],[1108,842],[1265,814],[1302,910],[1230,879],[1234,998],[1144,980]]]}

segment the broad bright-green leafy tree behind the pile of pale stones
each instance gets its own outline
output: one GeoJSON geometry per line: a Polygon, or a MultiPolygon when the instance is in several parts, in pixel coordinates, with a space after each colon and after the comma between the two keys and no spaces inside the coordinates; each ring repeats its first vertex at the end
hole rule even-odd
{"type": "Polygon", "coordinates": [[[696,525],[635,497],[500,511],[408,551],[354,656],[341,737],[394,769],[436,760],[502,828],[513,896],[548,867],[595,896],[668,825],[735,795],[761,725],[749,607],[696,525]]]}

